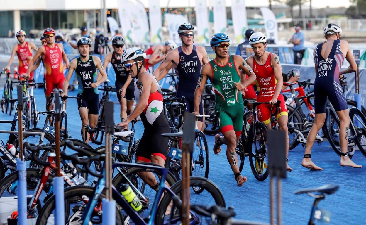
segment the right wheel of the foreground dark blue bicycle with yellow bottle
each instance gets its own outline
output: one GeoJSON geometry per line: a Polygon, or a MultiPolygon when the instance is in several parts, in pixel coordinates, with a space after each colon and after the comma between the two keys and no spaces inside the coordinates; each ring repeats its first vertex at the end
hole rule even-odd
{"type": "MultiPolygon", "coordinates": [[[[225,199],[219,187],[217,187],[212,181],[208,180],[207,178],[192,176],[190,178],[190,187],[200,187],[202,190],[204,190],[200,194],[197,194],[194,191],[190,191],[191,205],[195,204],[202,205],[202,202],[204,202],[205,205],[218,205],[221,207],[225,207],[225,199]]],[[[178,181],[177,183],[175,183],[171,187],[171,190],[178,197],[180,197],[180,193],[182,192],[182,181],[178,181]]],[[[174,195],[171,192],[167,192],[164,194],[164,197],[160,201],[158,206],[157,215],[155,218],[155,224],[157,225],[169,224],[169,221],[173,220],[175,222],[172,224],[177,224],[177,220],[180,220],[182,206],[177,206],[174,203],[173,199],[174,195]],[[169,208],[170,206],[172,207],[169,208]]],[[[205,218],[199,215],[195,214],[194,216],[199,217],[200,220],[205,220],[205,218]]],[[[211,219],[211,217],[209,219],[211,219]]]]}

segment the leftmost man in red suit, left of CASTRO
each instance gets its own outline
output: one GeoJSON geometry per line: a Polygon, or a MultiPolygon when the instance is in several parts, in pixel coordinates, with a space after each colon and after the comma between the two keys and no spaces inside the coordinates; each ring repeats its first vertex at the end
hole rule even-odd
{"type": "MultiPolygon", "coordinates": [[[[5,66],[5,70],[10,69],[10,65],[11,63],[13,63],[13,59],[14,59],[14,55],[16,53],[16,55],[18,55],[18,59],[19,59],[19,69],[18,69],[18,73],[21,76],[22,74],[27,73],[27,69],[28,69],[28,65],[32,59],[32,49],[34,50],[38,50],[37,47],[32,43],[32,42],[26,42],[25,41],[25,36],[26,33],[23,30],[19,30],[18,32],[16,32],[15,34],[16,39],[18,39],[19,44],[16,44],[13,47],[8,65],[5,66]]],[[[14,75],[15,76],[15,75],[14,75]]],[[[30,79],[33,79],[33,72],[30,73],[30,79]]],[[[23,77],[19,77],[20,80],[23,80],[23,77]]]]}

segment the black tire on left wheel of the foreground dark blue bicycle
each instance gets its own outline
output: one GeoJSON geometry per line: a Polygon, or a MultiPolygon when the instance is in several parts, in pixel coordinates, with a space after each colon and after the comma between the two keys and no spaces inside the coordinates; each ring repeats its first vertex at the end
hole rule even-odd
{"type": "MultiPolygon", "coordinates": [[[[89,199],[92,199],[94,197],[94,188],[88,187],[88,186],[74,186],[74,187],[68,187],[65,189],[64,196],[65,196],[65,222],[68,222],[68,216],[70,214],[70,202],[68,199],[76,199],[80,198],[81,196],[85,195],[89,197],[89,199]]],[[[113,198],[115,198],[113,194],[113,198]]],[[[105,191],[102,192],[102,194],[99,197],[99,201],[102,201],[102,198],[105,198],[105,191]]],[[[48,218],[52,215],[52,211],[56,207],[56,198],[55,195],[52,195],[50,199],[45,203],[44,207],[42,207],[42,210],[37,217],[36,225],[47,225],[48,218]]],[[[120,212],[119,206],[116,205],[116,225],[122,225],[123,224],[123,216],[120,212]]],[[[76,221],[75,221],[76,222],[76,221]]]]}

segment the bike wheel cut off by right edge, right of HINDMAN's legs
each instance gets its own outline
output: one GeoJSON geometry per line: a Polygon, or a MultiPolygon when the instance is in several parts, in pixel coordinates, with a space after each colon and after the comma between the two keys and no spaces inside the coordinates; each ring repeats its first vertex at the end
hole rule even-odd
{"type": "Polygon", "coordinates": [[[350,127],[350,136],[357,135],[355,143],[363,156],[366,157],[366,117],[358,108],[351,108],[350,119],[356,129],[356,133],[354,133],[350,127]]]}

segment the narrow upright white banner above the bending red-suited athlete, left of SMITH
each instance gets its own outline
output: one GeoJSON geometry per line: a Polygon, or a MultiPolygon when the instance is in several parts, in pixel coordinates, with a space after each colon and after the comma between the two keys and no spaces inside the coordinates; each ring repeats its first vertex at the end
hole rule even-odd
{"type": "Polygon", "coordinates": [[[160,0],[149,0],[149,19],[151,42],[162,42],[160,0]]]}

